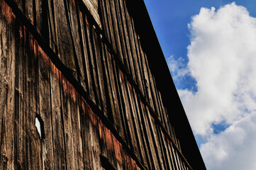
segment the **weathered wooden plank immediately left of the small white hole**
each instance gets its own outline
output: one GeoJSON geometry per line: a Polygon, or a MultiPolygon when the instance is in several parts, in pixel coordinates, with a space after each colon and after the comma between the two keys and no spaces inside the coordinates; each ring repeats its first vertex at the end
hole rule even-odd
{"type": "MultiPolygon", "coordinates": [[[[35,59],[34,52],[34,39],[33,36],[25,29],[25,54],[23,57],[23,102],[25,110],[23,115],[25,115],[25,122],[23,124],[25,128],[25,134],[23,142],[25,142],[25,162],[27,169],[40,169],[42,167],[41,159],[41,147],[40,147],[40,137],[35,127],[35,118],[37,114],[37,103],[38,103],[38,84],[37,77],[38,74],[38,61],[35,59]]],[[[24,150],[23,150],[24,152],[24,150]]]]}

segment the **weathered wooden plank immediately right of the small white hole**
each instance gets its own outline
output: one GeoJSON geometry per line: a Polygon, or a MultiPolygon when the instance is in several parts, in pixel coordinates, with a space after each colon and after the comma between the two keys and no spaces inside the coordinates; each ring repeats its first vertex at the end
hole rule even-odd
{"type": "Polygon", "coordinates": [[[38,57],[38,115],[44,124],[44,139],[42,140],[43,169],[54,169],[53,139],[52,139],[52,111],[50,91],[50,58],[35,43],[35,52],[38,57]]]}

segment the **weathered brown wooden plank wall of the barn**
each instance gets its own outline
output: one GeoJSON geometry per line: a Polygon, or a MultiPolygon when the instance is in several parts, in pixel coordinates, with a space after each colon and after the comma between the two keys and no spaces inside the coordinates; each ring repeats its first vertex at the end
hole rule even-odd
{"type": "Polygon", "coordinates": [[[0,169],[191,169],[126,1],[84,1],[0,0],[0,169]]]}

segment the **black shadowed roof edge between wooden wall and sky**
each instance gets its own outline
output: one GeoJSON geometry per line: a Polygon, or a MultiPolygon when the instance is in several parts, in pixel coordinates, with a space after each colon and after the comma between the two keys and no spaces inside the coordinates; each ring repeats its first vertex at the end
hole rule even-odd
{"type": "Polygon", "coordinates": [[[150,70],[169,113],[169,120],[179,138],[182,154],[193,169],[206,169],[145,3],[143,0],[130,0],[127,1],[127,6],[135,23],[135,30],[140,35],[143,50],[147,53],[150,70]]]}

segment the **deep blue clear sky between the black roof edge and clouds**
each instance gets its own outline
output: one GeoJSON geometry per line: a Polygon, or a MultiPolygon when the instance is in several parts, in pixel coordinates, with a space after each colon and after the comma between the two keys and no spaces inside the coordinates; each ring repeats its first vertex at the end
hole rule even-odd
{"type": "MultiPolygon", "coordinates": [[[[189,45],[189,30],[187,24],[191,16],[199,13],[201,7],[219,8],[233,1],[228,0],[144,0],[150,13],[152,24],[160,41],[165,57],[173,55],[174,59],[182,57],[187,62],[187,46],[189,45]]],[[[237,5],[245,6],[250,16],[256,16],[255,0],[235,1],[237,5]]],[[[196,90],[195,81],[184,77],[185,81],[175,82],[178,89],[196,90]]],[[[174,80],[175,81],[175,80],[174,80]]]]}

